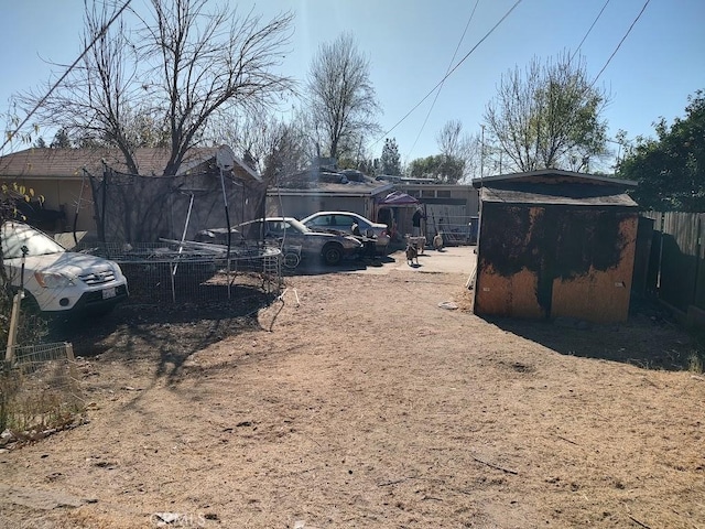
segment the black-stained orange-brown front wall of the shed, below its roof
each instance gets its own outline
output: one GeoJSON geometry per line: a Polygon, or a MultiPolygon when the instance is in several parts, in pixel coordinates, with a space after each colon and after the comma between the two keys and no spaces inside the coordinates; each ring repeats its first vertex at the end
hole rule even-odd
{"type": "Polygon", "coordinates": [[[513,317],[628,317],[637,212],[486,203],[475,312],[513,317]]]}

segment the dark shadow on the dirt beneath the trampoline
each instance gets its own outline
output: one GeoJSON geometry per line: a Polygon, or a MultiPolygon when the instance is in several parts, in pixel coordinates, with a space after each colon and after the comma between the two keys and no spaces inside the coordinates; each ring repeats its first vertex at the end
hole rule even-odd
{"type": "Polygon", "coordinates": [[[153,359],[158,376],[173,377],[194,353],[228,336],[261,330],[258,312],[275,301],[276,294],[237,287],[228,302],[126,303],[105,316],[53,322],[48,339],[70,342],[82,357],[153,359]]]}

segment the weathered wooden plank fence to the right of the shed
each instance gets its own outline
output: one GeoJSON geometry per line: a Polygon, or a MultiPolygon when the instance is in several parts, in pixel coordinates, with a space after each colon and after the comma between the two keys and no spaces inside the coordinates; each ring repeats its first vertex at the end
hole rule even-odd
{"type": "Polygon", "coordinates": [[[637,289],[683,314],[705,311],[705,214],[650,212],[639,224],[646,229],[637,241],[637,289]],[[647,255],[647,262],[640,260],[647,255]]]}

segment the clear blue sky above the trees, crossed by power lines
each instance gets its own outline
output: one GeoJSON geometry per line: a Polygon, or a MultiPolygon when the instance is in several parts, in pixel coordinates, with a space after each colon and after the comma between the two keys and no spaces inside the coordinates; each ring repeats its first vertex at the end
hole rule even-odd
{"type": "MultiPolygon", "coordinates": [[[[145,1],[132,0],[131,6],[143,9],[145,1]]],[[[605,67],[646,1],[607,2],[579,48],[593,76],[605,67]]],[[[0,0],[0,110],[8,108],[12,93],[46,82],[52,69],[55,76],[63,73],[47,61],[69,64],[78,56],[83,3],[0,0]]],[[[522,0],[446,79],[432,108],[435,93],[429,94],[449,65],[465,57],[514,3],[248,0],[238,2],[238,9],[254,9],[264,18],[286,10],[295,13],[291,53],[281,72],[302,80],[321,43],[346,31],[352,33],[370,61],[371,80],[383,110],[380,126],[384,131],[395,126],[377,138],[370,152],[379,155],[384,137],[395,138],[402,161],[409,162],[437,152],[436,136],[448,120],[460,120],[467,132],[479,132],[501,74],[525,66],[534,56],[544,60],[575,51],[606,0],[522,0]]],[[[611,95],[605,118],[612,136],[618,129],[625,129],[630,139],[653,136],[652,123],[660,117],[672,121],[683,116],[687,96],[705,88],[705,0],[651,0],[598,84],[611,95]]]]}

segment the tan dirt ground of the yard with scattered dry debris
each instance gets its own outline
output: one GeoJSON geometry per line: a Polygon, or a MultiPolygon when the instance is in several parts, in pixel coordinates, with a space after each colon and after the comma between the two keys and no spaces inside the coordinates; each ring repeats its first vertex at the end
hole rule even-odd
{"type": "Polygon", "coordinates": [[[688,336],[482,320],[453,250],[74,335],[87,422],[0,454],[0,527],[705,528],[688,336]]]}

